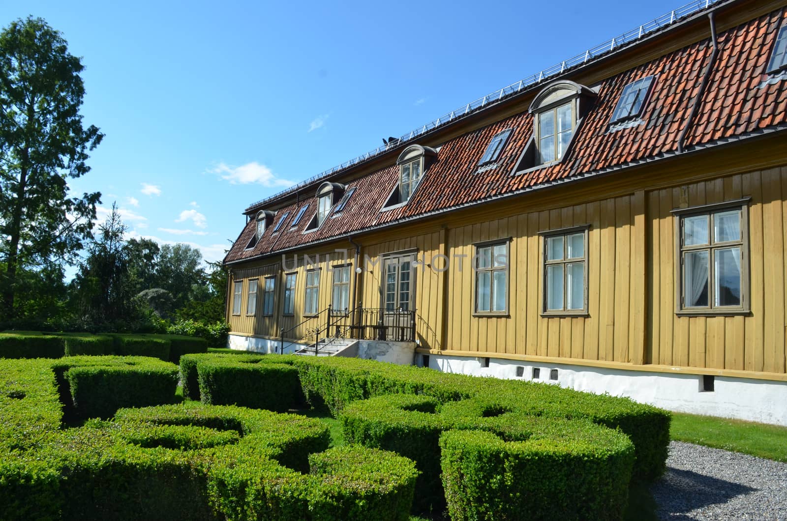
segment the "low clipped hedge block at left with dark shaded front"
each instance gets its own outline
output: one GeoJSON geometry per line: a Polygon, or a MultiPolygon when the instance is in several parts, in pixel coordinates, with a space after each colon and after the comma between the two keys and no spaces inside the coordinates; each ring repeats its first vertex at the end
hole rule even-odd
{"type": "Polygon", "coordinates": [[[171,402],[178,384],[174,364],[146,357],[67,357],[51,367],[66,412],[79,418],[171,402]]]}

